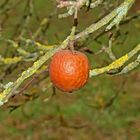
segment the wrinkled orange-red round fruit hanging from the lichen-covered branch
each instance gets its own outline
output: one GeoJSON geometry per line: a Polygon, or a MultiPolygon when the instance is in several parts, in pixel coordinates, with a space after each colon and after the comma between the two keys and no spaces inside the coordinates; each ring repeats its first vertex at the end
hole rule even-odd
{"type": "Polygon", "coordinates": [[[60,50],[52,57],[49,75],[58,89],[65,92],[77,90],[88,80],[88,58],[79,51],[60,50]]]}

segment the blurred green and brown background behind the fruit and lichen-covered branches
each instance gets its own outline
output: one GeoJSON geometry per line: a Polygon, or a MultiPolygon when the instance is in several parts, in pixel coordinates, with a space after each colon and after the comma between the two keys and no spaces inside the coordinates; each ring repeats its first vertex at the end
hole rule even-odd
{"type": "MultiPolygon", "coordinates": [[[[82,8],[77,32],[107,15],[121,2],[106,0],[95,9],[82,8]]],[[[65,9],[56,8],[55,0],[0,1],[1,91],[3,84],[15,81],[43,54],[34,42],[27,43],[25,38],[54,45],[69,35],[73,17],[58,19],[58,14],[63,12],[65,9]],[[24,38],[19,39],[21,36],[24,38]],[[15,44],[9,40],[20,47],[13,47],[15,44]],[[31,55],[23,61],[8,63],[2,59],[27,52],[31,55]]],[[[111,63],[109,56],[100,51],[108,46],[111,35],[117,58],[140,43],[140,1],[136,0],[119,29],[106,33],[103,29],[77,43],[76,49],[88,56],[91,68],[111,63]]],[[[48,62],[46,69],[47,65],[48,62]]],[[[31,77],[18,89],[21,94],[13,96],[0,108],[0,139],[140,140],[139,70],[140,67],[125,75],[103,74],[90,78],[86,86],[71,94],[54,89],[47,71],[31,77]]]]}

